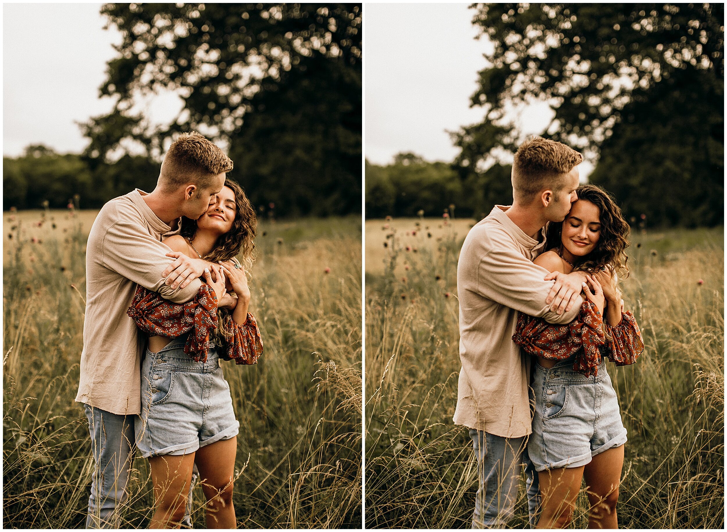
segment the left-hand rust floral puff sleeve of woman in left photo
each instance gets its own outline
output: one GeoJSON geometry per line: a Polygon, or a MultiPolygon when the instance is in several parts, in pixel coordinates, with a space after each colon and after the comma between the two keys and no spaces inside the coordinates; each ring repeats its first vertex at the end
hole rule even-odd
{"type": "Polygon", "coordinates": [[[204,362],[209,350],[209,334],[217,329],[217,296],[202,283],[197,295],[186,303],[173,303],[157,292],[137,286],[128,314],[139,329],[150,336],[176,338],[189,332],[184,352],[204,362]]]}

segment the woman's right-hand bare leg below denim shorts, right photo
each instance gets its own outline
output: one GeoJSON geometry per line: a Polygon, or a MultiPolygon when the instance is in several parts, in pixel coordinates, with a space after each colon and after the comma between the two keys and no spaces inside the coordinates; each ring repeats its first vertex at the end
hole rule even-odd
{"type": "Polygon", "coordinates": [[[590,502],[588,528],[618,528],[616,502],[619,500],[624,446],[593,456],[585,467],[586,492],[590,502]]]}

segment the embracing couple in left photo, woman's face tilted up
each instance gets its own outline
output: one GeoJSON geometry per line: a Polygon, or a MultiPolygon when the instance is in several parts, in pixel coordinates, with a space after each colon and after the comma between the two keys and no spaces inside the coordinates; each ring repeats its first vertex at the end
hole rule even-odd
{"type": "Polygon", "coordinates": [[[207,527],[235,528],[240,424],[220,360],[253,364],[262,340],[247,312],[257,220],[225,180],[232,168],[212,142],[182,134],[153,192],[109,201],[93,223],[76,395],[95,462],[87,528],[121,525],[134,446],[149,460],[151,528],[191,525],[193,469],[207,527]]]}

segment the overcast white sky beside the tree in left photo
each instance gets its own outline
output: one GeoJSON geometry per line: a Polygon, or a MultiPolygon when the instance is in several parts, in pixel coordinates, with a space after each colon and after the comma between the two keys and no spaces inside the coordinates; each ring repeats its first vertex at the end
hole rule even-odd
{"type": "MultiPolygon", "coordinates": [[[[103,29],[101,4],[3,4],[3,153],[18,156],[29,144],[60,153],[88,145],[74,121],[108,113],[100,100],[106,62],[121,43],[103,29]]],[[[143,104],[155,122],[170,120],[180,100],[163,94],[143,104]]]]}

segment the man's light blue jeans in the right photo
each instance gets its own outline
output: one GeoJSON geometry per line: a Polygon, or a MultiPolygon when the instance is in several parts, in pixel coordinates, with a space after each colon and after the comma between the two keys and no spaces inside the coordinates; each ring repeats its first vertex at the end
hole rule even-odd
{"type": "Polygon", "coordinates": [[[470,429],[470,438],[477,456],[479,478],[472,528],[503,528],[507,525],[515,512],[523,466],[529,523],[534,528],[540,491],[538,475],[528,457],[528,438],[502,438],[474,429],[470,429]]]}

